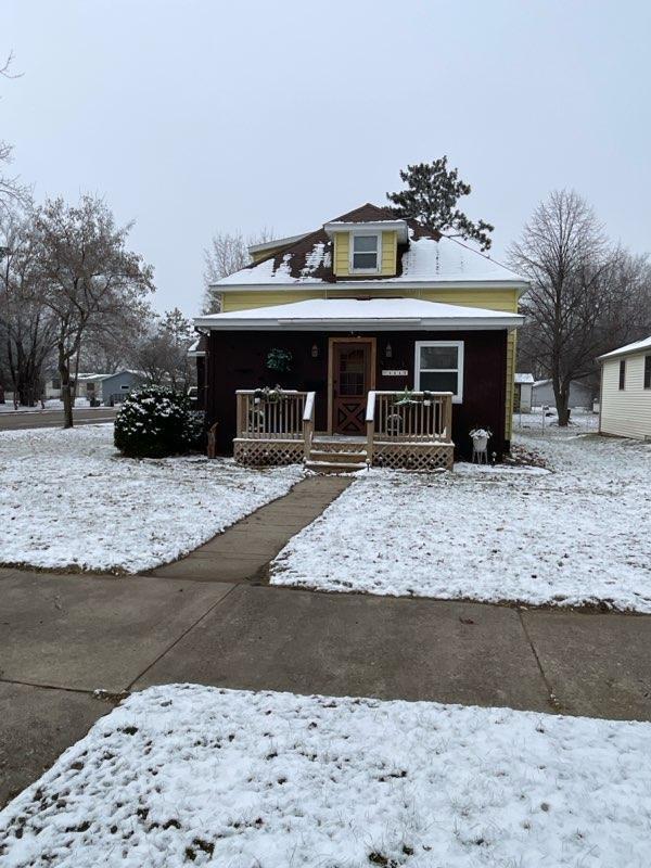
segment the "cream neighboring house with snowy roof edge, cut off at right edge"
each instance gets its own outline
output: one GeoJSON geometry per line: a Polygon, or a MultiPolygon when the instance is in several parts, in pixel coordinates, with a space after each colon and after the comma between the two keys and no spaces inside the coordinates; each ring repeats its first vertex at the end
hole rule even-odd
{"type": "Polygon", "coordinates": [[[651,441],[651,336],[599,357],[599,432],[651,441]]]}

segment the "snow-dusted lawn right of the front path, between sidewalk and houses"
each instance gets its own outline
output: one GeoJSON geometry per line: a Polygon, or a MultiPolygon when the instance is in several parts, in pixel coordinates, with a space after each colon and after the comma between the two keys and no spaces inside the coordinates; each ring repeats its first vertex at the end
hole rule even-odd
{"type": "Polygon", "coordinates": [[[553,472],[372,470],[280,552],[271,583],[651,612],[651,445],[558,426],[553,472]]]}

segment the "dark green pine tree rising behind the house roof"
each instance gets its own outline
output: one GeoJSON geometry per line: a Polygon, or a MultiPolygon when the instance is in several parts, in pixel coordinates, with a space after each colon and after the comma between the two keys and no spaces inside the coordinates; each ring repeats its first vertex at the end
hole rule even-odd
{"type": "Polygon", "coordinates": [[[400,170],[406,190],[387,193],[392,210],[398,217],[412,218],[430,229],[454,233],[476,241],[483,251],[490,247],[494,226],[485,220],[473,222],[457,207],[461,196],[467,196],[470,184],[460,180],[458,169],[448,169],[447,156],[433,163],[419,163],[400,170]]]}

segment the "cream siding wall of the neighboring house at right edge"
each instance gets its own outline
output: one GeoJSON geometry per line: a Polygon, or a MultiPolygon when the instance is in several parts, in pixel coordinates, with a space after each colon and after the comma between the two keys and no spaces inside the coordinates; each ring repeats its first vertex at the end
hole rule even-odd
{"type": "Polygon", "coordinates": [[[601,368],[601,424],[603,434],[651,439],[651,388],[644,388],[644,354],[626,359],[625,388],[620,390],[620,359],[601,368]]]}

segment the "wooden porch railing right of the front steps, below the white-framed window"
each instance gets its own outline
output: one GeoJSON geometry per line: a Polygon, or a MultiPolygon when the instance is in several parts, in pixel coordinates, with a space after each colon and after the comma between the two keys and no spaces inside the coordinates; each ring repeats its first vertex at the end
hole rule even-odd
{"type": "Polygon", "coordinates": [[[413,392],[401,401],[401,392],[369,392],[367,401],[367,448],[373,442],[451,443],[452,393],[413,392]]]}

